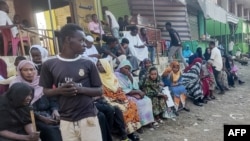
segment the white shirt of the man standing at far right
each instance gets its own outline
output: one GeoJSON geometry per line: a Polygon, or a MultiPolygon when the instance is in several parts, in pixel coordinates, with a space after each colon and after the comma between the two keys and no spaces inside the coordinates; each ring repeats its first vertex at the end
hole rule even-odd
{"type": "Polygon", "coordinates": [[[221,52],[217,47],[214,47],[211,51],[210,59],[213,61],[213,66],[217,71],[221,71],[223,68],[221,52]]]}

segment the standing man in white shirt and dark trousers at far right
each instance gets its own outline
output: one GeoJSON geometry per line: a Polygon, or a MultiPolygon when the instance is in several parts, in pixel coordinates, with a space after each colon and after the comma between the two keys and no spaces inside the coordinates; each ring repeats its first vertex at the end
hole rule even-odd
{"type": "Polygon", "coordinates": [[[210,60],[213,61],[213,72],[216,84],[220,89],[219,94],[224,94],[225,91],[221,85],[221,81],[219,80],[221,75],[221,70],[223,68],[222,56],[220,50],[215,46],[215,42],[211,41],[209,43],[209,48],[211,50],[210,60]]]}

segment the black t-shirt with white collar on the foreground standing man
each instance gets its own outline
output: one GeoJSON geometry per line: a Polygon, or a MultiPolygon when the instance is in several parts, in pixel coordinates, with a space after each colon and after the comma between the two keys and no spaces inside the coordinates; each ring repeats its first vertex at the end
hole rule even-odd
{"type": "MultiPolygon", "coordinates": [[[[40,75],[40,85],[52,88],[65,84],[68,80],[82,87],[101,87],[101,79],[94,63],[83,58],[71,61],[59,56],[44,62],[40,75]]],[[[78,121],[86,117],[96,116],[97,110],[93,98],[83,94],[72,97],[59,95],[59,113],[61,119],[78,121]]]]}

